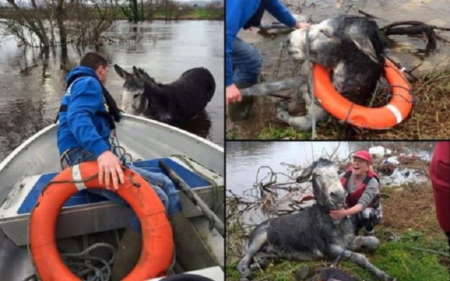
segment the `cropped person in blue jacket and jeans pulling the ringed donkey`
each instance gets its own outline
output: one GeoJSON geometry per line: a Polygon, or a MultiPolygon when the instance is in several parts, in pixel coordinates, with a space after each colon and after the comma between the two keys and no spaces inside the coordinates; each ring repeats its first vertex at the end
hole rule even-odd
{"type": "Polygon", "coordinates": [[[240,88],[257,83],[262,56],[255,47],[238,38],[241,28],[257,27],[264,11],[287,25],[300,29],[308,23],[297,22],[280,0],[229,0],[226,2],[226,104],[242,100],[240,88]]]}

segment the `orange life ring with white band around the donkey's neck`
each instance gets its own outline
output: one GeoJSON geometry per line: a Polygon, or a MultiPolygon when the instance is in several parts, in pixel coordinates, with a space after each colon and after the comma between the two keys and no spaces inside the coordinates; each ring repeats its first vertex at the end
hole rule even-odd
{"type": "Polygon", "coordinates": [[[330,70],[314,65],[314,95],[322,107],[334,117],[354,126],[384,130],[402,122],[413,107],[411,86],[390,60],[386,60],[386,79],[392,86],[390,103],[383,107],[364,107],[344,98],[330,81],[330,70]]]}

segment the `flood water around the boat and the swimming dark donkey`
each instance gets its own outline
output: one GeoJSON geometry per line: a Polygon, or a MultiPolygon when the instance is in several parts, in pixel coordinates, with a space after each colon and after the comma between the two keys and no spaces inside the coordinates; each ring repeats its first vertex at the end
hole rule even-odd
{"type": "MultiPolygon", "coordinates": [[[[111,63],[131,72],[141,67],[162,83],[178,79],[192,67],[205,67],[214,76],[216,91],[200,115],[182,129],[224,145],[224,22],[117,21],[105,36],[124,40],[104,44],[98,50],[111,63]],[[139,38],[136,43],[136,38],[139,38]]],[[[94,51],[86,48],[82,53],[94,51]]],[[[0,161],[40,129],[54,122],[65,86],[65,74],[82,53],[69,46],[68,66],[58,48],[42,53],[39,48],[18,47],[15,40],[0,41],[0,161]]],[[[122,103],[123,80],[110,67],[106,88],[122,103]]],[[[120,137],[120,136],[119,136],[120,137]]]]}

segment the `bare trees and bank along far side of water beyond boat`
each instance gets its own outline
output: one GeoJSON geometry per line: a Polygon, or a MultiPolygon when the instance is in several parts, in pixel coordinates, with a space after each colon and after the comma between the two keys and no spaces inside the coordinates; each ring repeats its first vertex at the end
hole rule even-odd
{"type": "Polygon", "coordinates": [[[6,0],[0,10],[0,25],[6,34],[14,35],[23,46],[50,47],[68,44],[77,47],[108,40],[102,33],[117,19],[142,20],[223,19],[224,7],[219,2],[201,9],[173,0],[6,0]]]}

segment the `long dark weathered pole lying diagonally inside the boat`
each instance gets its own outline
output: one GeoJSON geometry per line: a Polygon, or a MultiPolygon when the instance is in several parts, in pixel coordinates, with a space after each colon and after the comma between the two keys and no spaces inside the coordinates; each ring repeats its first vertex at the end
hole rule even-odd
{"type": "Polygon", "coordinates": [[[191,202],[193,202],[195,206],[200,208],[200,210],[203,212],[203,215],[207,218],[208,221],[210,221],[212,226],[214,226],[214,228],[216,228],[222,236],[225,236],[224,223],[220,220],[220,218],[216,214],[214,214],[214,212],[207,206],[207,204],[205,204],[205,202],[203,202],[203,200],[191,190],[189,185],[185,181],[183,181],[183,179],[178,176],[174,172],[174,170],[170,169],[169,166],[165,164],[165,162],[160,161],[159,164],[161,168],[169,175],[169,178],[171,178],[172,181],[174,181],[174,183],[178,185],[179,189],[183,191],[184,194],[186,194],[189,200],[191,200],[191,202]]]}

